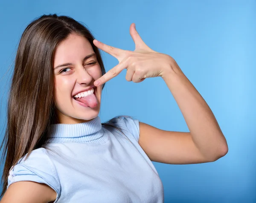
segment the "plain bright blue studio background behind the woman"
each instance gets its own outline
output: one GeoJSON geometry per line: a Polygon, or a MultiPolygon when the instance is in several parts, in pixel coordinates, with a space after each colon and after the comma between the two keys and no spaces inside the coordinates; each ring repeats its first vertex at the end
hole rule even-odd
{"type": "MultiPolygon", "coordinates": [[[[7,70],[21,34],[36,17],[52,13],[82,21],[96,39],[131,51],[129,26],[136,23],[144,42],[172,56],[211,108],[229,152],[205,164],[153,162],[166,203],[256,202],[256,1],[0,1],[0,141],[6,128],[6,81],[13,67],[7,70]]],[[[106,70],[118,64],[113,56],[102,56],[106,70]]],[[[129,115],[163,130],[189,132],[163,79],[134,83],[125,74],[123,70],[103,90],[102,122],[129,115]]],[[[3,163],[0,169],[2,175],[3,163]]]]}

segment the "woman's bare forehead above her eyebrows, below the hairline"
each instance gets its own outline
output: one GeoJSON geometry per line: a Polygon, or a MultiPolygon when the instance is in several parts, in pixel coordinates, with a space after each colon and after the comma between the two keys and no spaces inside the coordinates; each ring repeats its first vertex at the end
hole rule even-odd
{"type": "Polygon", "coordinates": [[[70,34],[55,50],[54,67],[61,63],[80,62],[84,56],[92,53],[94,51],[88,39],[78,34],[70,34]]]}

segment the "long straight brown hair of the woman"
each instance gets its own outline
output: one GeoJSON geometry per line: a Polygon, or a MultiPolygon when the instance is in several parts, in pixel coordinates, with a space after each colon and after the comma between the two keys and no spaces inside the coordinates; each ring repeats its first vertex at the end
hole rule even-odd
{"type": "MultiPolygon", "coordinates": [[[[3,142],[1,163],[3,168],[3,196],[8,185],[9,170],[24,155],[42,147],[49,136],[49,125],[55,119],[53,101],[55,48],[69,34],[76,33],[88,39],[105,74],[99,49],[93,44],[93,35],[85,25],[71,17],[56,14],[42,15],[33,20],[24,30],[17,48],[15,67],[8,97],[7,127],[3,142]]],[[[105,84],[102,86],[102,90],[105,84]]],[[[109,122],[109,121],[108,121],[109,122]]],[[[122,130],[111,123],[107,127],[122,130]]],[[[44,147],[47,148],[47,147],[44,147]]]]}

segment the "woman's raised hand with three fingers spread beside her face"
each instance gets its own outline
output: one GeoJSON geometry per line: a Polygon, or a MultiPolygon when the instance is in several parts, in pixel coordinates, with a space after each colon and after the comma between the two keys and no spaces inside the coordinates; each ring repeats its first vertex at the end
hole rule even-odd
{"type": "Polygon", "coordinates": [[[96,47],[116,57],[119,61],[118,65],[94,82],[95,86],[104,84],[125,68],[127,69],[125,79],[133,82],[142,82],[150,77],[163,77],[165,71],[170,69],[170,60],[174,59],[167,54],[161,54],[149,48],[141,39],[134,23],[130,26],[130,34],[135,43],[134,51],[122,50],[106,45],[96,39],[93,40],[93,44],[96,47]]]}

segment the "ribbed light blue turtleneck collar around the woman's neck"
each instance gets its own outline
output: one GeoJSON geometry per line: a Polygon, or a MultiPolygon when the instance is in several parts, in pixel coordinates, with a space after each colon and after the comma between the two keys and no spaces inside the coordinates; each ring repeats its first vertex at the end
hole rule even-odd
{"type": "Polygon", "coordinates": [[[91,121],[78,124],[51,124],[50,135],[47,143],[63,142],[90,142],[102,143],[107,137],[103,136],[104,131],[99,116],[91,121]]]}

